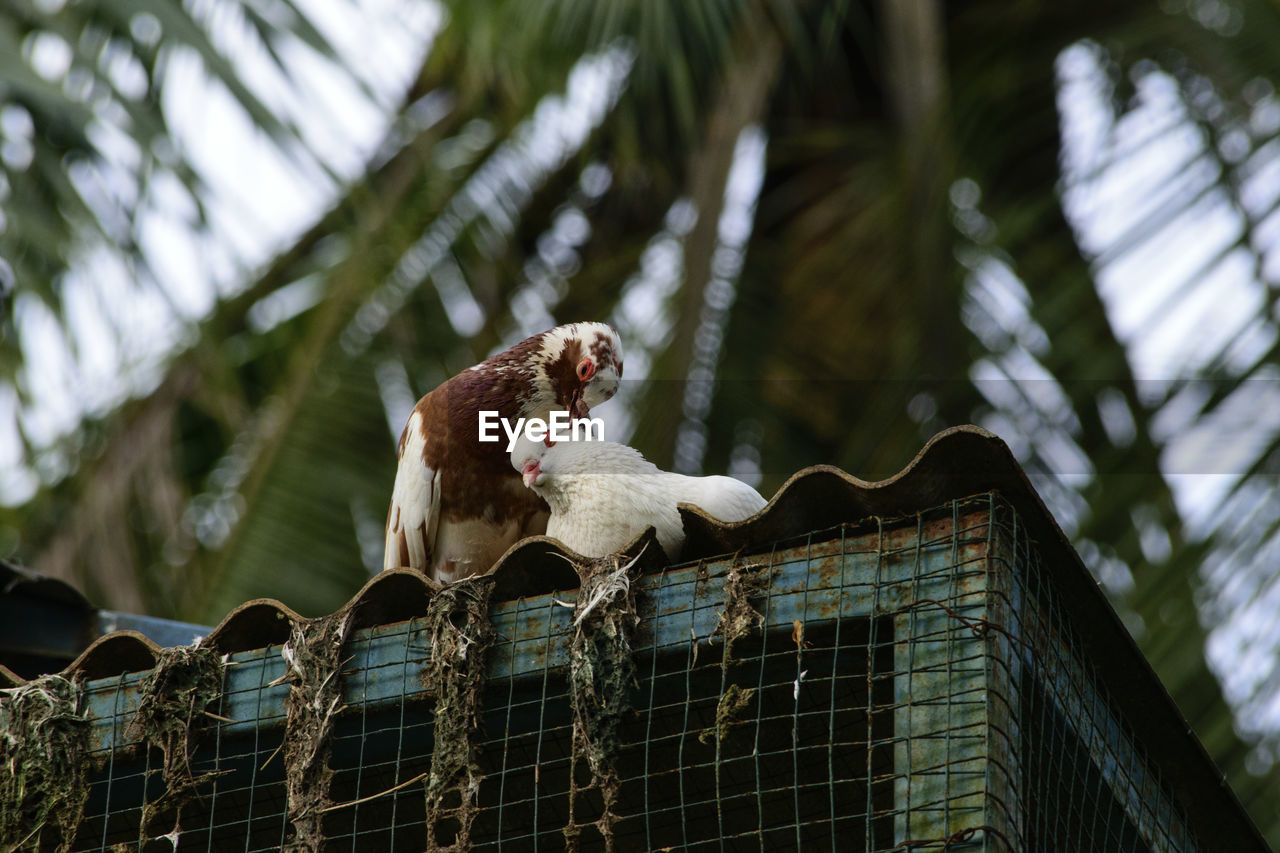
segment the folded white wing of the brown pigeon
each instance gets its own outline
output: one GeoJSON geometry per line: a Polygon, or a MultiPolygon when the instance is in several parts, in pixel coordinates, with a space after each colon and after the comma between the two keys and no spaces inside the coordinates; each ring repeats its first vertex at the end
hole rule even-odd
{"type": "Polygon", "coordinates": [[[424,456],[422,415],[415,411],[404,425],[392,506],[387,514],[383,569],[417,569],[429,573],[440,525],[440,473],[424,456]]]}

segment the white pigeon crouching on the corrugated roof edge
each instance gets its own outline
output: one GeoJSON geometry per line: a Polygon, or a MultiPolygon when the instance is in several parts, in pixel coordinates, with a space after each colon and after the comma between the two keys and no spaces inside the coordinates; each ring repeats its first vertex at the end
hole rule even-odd
{"type": "Polygon", "coordinates": [[[511,465],[552,510],[547,535],[584,557],[617,552],[645,528],[672,560],[685,544],[678,503],[721,521],[742,521],[767,501],[732,476],[686,476],[659,469],[640,451],[605,441],[552,446],[521,435],[511,465]]]}

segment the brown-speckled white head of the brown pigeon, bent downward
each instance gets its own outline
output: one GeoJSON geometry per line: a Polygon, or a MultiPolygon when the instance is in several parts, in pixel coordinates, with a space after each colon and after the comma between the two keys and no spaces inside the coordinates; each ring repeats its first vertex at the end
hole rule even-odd
{"type": "Polygon", "coordinates": [[[570,323],[544,332],[536,359],[540,402],[571,418],[586,418],[622,382],[622,341],[604,323],[570,323]]]}

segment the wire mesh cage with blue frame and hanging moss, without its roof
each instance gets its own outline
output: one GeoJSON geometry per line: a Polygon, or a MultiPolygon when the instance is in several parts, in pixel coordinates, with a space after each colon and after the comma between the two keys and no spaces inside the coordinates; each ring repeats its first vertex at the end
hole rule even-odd
{"type": "Polygon", "coordinates": [[[471,704],[442,699],[431,616],[339,613],[88,680],[83,803],[23,844],[1208,849],[1082,648],[1091,615],[1061,606],[997,494],[640,574],[628,594],[635,619],[596,621],[594,646],[573,590],[493,603],[488,634],[447,612],[451,660],[483,661],[457,683],[471,704]]]}

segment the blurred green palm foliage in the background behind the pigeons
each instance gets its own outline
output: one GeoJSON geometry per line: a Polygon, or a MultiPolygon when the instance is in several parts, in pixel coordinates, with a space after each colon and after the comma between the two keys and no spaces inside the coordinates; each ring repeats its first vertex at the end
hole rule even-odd
{"type": "MultiPolygon", "coordinates": [[[[156,174],[197,207],[205,199],[163,109],[177,53],[200,56],[265,134],[306,150],[207,35],[211,6],[238,9],[264,45],[288,35],[340,64],[288,0],[134,0],[127,18],[111,3],[0,10],[8,307],[31,293],[61,316],[59,282],[95,241],[145,278],[131,200],[156,174]],[[56,81],[32,65],[50,38],[69,49],[56,81]],[[141,69],[141,88],[120,91],[109,70],[120,61],[141,69]],[[104,123],[132,140],[124,167],[95,131],[104,123]],[[111,165],[132,190],[104,213],[77,164],[111,165]]],[[[65,439],[78,464],[54,466],[6,511],[5,556],[104,606],[161,616],[212,624],[259,596],[333,611],[380,561],[389,416],[543,320],[611,319],[628,379],[641,379],[623,393],[632,443],[663,466],[745,464],[768,494],[813,462],[887,476],[948,424],[1000,432],[1277,844],[1277,735],[1256,721],[1280,693],[1274,644],[1252,648],[1272,660],[1233,695],[1240,717],[1206,648],[1233,612],[1213,566],[1252,566],[1231,578],[1249,602],[1275,589],[1280,514],[1258,507],[1275,502],[1280,430],[1196,524],[1162,473],[1179,435],[1238,406],[1251,380],[1274,384],[1280,287],[1266,254],[1280,199],[1260,201],[1251,181],[1280,163],[1280,123],[1258,120],[1280,110],[1276,44],[1280,9],[1266,0],[447,4],[364,173],[195,325],[154,391],[65,439]],[[1199,149],[1184,172],[1207,175],[1135,190],[1149,193],[1128,200],[1142,215],[1103,247],[1065,204],[1073,181],[1088,182],[1064,168],[1056,63],[1068,50],[1106,81],[1112,122],[1138,109],[1146,82],[1167,82],[1185,119],[1137,150],[1192,128],[1199,149]],[[573,92],[591,85],[605,93],[584,108],[573,92]],[[585,127],[548,142],[548,109],[572,102],[561,120],[585,127]],[[767,142],[763,186],[724,291],[708,283],[724,278],[719,214],[748,128],[767,142]],[[1185,375],[1151,383],[1134,342],[1161,313],[1149,329],[1117,330],[1105,274],[1185,228],[1206,199],[1240,228],[1162,313],[1203,301],[1210,273],[1243,252],[1265,287],[1242,311],[1251,339],[1268,343],[1242,355],[1230,336],[1185,375]],[[252,321],[300,287],[316,296],[308,307],[252,321]],[[699,361],[714,369],[713,393],[681,406],[699,361]],[[1167,548],[1152,547],[1153,530],[1167,548]]],[[[1100,169],[1134,152],[1106,156],[1100,169]]],[[[26,405],[12,316],[0,380],[26,405]]],[[[52,451],[28,450],[44,470],[37,457],[52,451]]]]}

